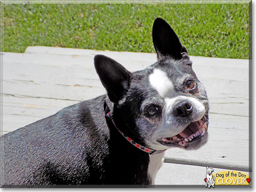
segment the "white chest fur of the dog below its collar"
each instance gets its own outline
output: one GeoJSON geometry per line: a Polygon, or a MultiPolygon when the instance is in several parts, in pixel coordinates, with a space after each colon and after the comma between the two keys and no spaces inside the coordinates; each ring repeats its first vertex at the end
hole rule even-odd
{"type": "Polygon", "coordinates": [[[164,152],[149,156],[148,176],[152,181],[151,185],[155,185],[156,173],[158,172],[158,170],[160,169],[163,163],[163,155],[164,155],[164,152]]]}

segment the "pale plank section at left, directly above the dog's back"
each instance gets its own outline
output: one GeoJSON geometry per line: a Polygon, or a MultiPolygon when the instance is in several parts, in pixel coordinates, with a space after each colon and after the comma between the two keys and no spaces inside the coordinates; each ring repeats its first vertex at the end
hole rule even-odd
{"type": "Polygon", "coordinates": [[[3,131],[19,129],[79,101],[3,95],[3,131]]]}

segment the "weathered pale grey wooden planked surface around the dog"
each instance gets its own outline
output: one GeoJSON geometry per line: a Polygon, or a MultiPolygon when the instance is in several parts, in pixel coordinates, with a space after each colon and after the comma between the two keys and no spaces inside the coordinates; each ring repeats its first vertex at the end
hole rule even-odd
{"type": "MultiPolygon", "coordinates": [[[[104,54],[130,71],[156,62],[156,54],[28,47],[3,55],[3,134],[106,91],[93,65],[104,54]]],[[[206,167],[251,174],[249,60],[191,56],[210,100],[209,141],[198,150],[165,152],[156,185],[205,185],[206,167]]]]}

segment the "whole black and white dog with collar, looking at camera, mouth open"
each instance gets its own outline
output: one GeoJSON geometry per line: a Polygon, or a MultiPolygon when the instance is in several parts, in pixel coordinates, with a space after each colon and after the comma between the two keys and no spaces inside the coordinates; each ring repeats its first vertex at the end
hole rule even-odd
{"type": "Polygon", "coordinates": [[[1,185],[154,185],[163,152],[207,141],[208,98],[187,50],[165,20],[152,37],[158,62],[129,72],[104,55],[108,94],[1,137],[1,185]]]}

